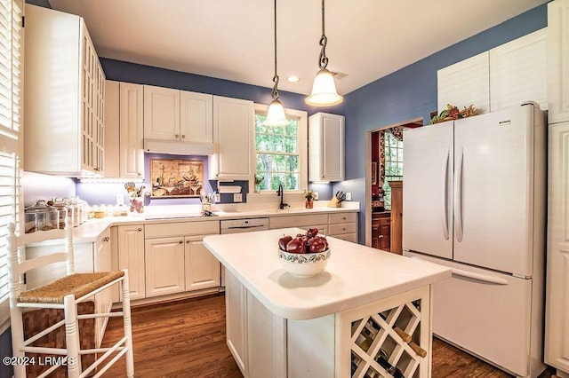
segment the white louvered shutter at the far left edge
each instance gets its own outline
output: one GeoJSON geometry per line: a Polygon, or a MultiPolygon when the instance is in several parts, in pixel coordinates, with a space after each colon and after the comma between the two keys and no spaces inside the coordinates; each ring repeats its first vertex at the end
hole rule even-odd
{"type": "Polygon", "coordinates": [[[7,224],[20,214],[22,0],[0,0],[0,325],[9,318],[7,224]]]}

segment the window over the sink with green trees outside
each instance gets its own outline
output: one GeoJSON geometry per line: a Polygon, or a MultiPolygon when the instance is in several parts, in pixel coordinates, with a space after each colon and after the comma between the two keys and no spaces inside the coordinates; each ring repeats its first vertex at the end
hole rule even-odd
{"type": "Polygon", "coordinates": [[[255,105],[255,190],[307,187],[307,114],[286,110],[287,126],[265,126],[268,106],[255,105]]]}

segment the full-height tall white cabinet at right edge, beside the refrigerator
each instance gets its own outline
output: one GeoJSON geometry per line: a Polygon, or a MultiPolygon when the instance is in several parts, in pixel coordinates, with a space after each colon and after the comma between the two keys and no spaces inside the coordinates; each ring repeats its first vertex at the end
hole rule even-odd
{"type": "Polygon", "coordinates": [[[548,4],[549,193],[545,363],[569,377],[569,0],[548,4]]]}

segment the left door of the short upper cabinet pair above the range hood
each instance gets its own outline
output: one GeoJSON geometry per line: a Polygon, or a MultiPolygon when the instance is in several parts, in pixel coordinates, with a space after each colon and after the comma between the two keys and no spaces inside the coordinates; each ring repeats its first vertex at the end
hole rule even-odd
{"type": "Polygon", "coordinates": [[[180,91],[144,86],[144,138],[180,140],[180,91]]]}

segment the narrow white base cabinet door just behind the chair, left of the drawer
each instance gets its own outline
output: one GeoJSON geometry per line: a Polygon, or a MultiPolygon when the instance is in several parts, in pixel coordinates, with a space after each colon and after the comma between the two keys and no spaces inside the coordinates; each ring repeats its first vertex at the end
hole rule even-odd
{"type": "MultiPolygon", "coordinates": [[[[117,226],[118,268],[128,269],[128,286],[131,300],[146,297],[144,272],[144,225],[117,226]]],[[[122,295],[116,298],[118,302],[122,295]]]]}

